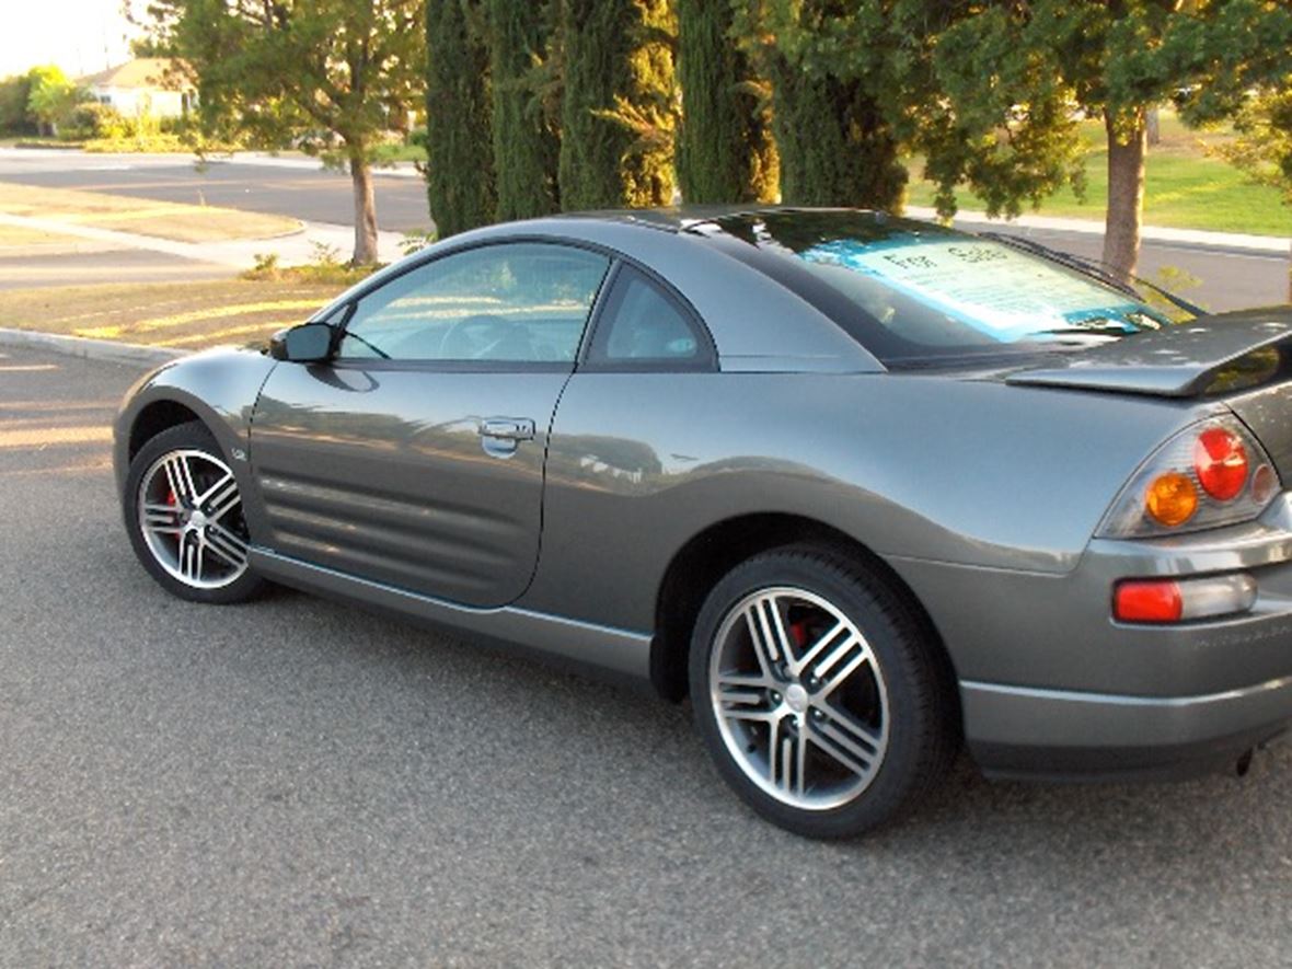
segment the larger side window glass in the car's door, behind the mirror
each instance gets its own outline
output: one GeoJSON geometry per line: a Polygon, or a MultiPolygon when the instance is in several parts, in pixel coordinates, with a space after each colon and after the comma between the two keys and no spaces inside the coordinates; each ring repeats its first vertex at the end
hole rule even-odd
{"type": "Polygon", "coordinates": [[[571,363],[610,260],[552,243],[444,256],[359,300],[342,359],[571,363]]]}

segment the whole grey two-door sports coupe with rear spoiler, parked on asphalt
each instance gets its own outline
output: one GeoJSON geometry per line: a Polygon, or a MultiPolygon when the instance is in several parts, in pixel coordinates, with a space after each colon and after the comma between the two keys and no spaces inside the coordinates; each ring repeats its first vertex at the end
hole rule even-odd
{"type": "Polygon", "coordinates": [[[455,236],[127,398],[169,592],[266,580],[690,696],[791,831],[990,775],[1238,765],[1292,721],[1292,309],[858,211],[455,236]]]}

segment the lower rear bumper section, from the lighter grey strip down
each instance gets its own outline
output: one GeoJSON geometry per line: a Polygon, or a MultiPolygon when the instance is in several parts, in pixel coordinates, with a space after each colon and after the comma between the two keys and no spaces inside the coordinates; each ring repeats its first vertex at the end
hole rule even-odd
{"type": "Polygon", "coordinates": [[[1292,676],[1198,696],[1123,696],[961,682],[969,749],[986,774],[1189,776],[1233,769],[1292,726],[1292,676]]]}

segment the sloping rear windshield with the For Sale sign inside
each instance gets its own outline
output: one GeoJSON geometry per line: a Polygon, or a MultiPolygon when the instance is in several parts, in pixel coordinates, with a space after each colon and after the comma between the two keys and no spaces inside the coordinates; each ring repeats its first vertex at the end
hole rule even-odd
{"type": "Polygon", "coordinates": [[[762,212],[708,226],[693,231],[752,245],[758,255],[745,252],[745,261],[835,318],[885,364],[1089,346],[1169,323],[1041,256],[884,213],[762,212]]]}

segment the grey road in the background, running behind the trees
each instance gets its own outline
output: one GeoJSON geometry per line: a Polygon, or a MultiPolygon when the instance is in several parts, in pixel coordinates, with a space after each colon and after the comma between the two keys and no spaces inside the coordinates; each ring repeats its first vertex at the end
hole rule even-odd
{"type": "MultiPolygon", "coordinates": [[[[199,171],[191,159],[151,155],[0,151],[0,181],[88,189],[168,202],[224,205],[350,225],[354,217],[349,176],[300,167],[213,163],[199,171]]],[[[377,174],[377,218],[382,229],[424,231],[432,225],[420,178],[377,174]]],[[[992,225],[1047,245],[1098,256],[1101,236],[992,225]]],[[[1292,220],[1288,233],[1292,234],[1292,220]]],[[[1182,289],[1213,311],[1287,302],[1287,255],[1205,249],[1146,242],[1141,275],[1160,282],[1163,267],[1198,280],[1182,289]]]]}

